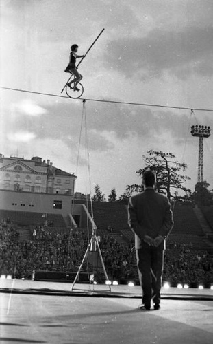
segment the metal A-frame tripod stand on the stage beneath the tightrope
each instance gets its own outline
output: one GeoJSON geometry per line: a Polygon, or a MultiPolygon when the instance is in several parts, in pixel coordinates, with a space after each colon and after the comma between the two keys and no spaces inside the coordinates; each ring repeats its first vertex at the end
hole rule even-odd
{"type": "Polygon", "coordinates": [[[100,249],[100,247],[99,247],[99,241],[98,241],[97,236],[96,236],[96,231],[97,231],[97,226],[95,226],[95,223],[94,223],[94,221],[92,220],[92,237],[91,237],[90,242],[89,242],[89,244],[88,244],[88,246],[87,246],[87,249],[86,249],[84,258],[82,259],[82,263],[81,263],[81,265],[79,266],[79,269],[78,269],[78,271],[77,271],[77,275],[75,276],[75,279],[74,279],[74,281],[73,281],[73,286],[72,286],[72,288],[71,288],[71,291],[73,291],[73,288],[74,288],[74,286],[75,286],[75,282],[77,281],[77,277],[79,276],[79,273],[80,273],[80,271],[82,270],[82,266],[83,266],[83,264],[84,264],[84,261],[85,261],[85,259],[86,259],[86,256],[88,255],[88,251],[91,250],[91,251],[94,252],[95,250],[98,249],[99,257],[100,257],[100,259],[101,259],[101,265],[102,265],[103,272],[104,272],[104,275],[105,275],[105,279],[106,279],[106,281],[108,281],[108,286],[109,286],[110,292],[111,292],[110,281],[109,281],[109,279],[108,279],[108,274],[107,274],[107,272],[106,272],[106,270],[105,270],[105,265],[104,265],[104,262],[103,262],[103,257],[102,257],[102,255],[101,255],[101,249],[100,249]]]}

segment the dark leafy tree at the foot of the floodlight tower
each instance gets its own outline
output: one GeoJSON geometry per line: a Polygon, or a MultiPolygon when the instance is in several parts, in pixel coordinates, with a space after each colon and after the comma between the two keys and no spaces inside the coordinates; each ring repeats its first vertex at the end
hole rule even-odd
{"type": "Polygon", "coordinates": [[[213,204],[212,193],[208,190],[210,184],[205,180],[195,185],[195,192],[192,193],[192,202],[199,206],[211,206],[213,204]]]}

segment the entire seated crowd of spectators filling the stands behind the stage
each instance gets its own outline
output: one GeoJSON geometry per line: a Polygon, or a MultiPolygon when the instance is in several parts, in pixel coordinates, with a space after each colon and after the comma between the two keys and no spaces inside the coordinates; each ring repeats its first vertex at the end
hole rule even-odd
{"type": "MultiPolygon", "coordinates": [[[[101,254],[109,279],[138,281],[135,251],[132,244],[118,244],[112,235],[101,236],[101,254]]],[[[10,220],[0,223],[0,275],[29,278],[33,270],[77,272],[88,246],[82,230],[70,233],[45,226],[34,228],[34,235],[21,241],[10,220]]],[[[88,262],[83,271],[91,269],[88,262]]],[[[98,268],[101,273],[101,268],[98,268]]],[[[164,259],[164,281],[177,283],[213,283],[213,260],[205,250],[192,245],[175,244],[167,248],[164,259]]],[[[98,274],[97,274],[98,275],[98,274]]]]}

